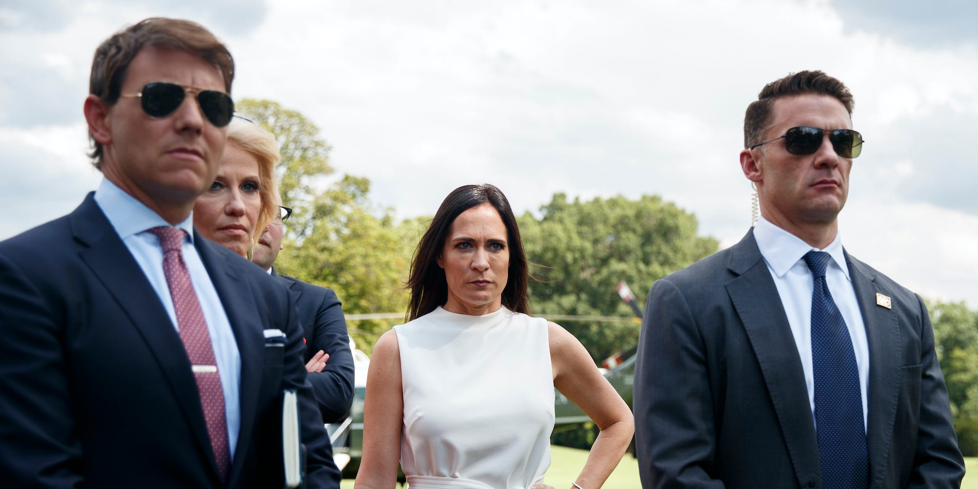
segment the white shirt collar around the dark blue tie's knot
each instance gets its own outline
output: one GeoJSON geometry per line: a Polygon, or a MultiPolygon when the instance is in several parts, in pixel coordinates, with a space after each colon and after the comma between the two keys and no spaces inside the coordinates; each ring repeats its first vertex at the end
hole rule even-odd
{"type": "Polygon", "coordinates": [[[828,253],[832,257],[832,261],[835,262],[835,266],[845,274],[846,280],[852,280],[849,277],[846,255],[838,233],[835,233],[835,239],[832,240],[831,244],[825,246],[824,249],[819,249],[778,228],[762,215],[758,216],[757,225],[754,226],[754,240],[757,241],[757,247],[761,250],[764,260],[768,262],[778,277],[783,277],[795,263],[798,263],[805,256],[805,253],[815,249],[828,253]]]}

